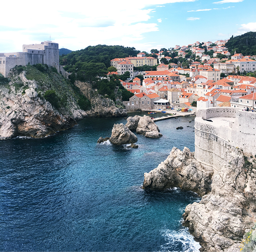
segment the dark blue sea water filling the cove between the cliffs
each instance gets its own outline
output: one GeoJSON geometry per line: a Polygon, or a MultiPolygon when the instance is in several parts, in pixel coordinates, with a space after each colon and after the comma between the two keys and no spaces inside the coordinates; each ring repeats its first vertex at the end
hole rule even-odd
{"type": "Polygon", "coordinates": [[[144,172],[173,146],[194,151],[190,119],[157,122],[163,137],[138,135],[138,149],[97,144],[123,118],[88,118],[52,137],[0,142],[0,250],[197,251],[181,225],[196,194],[141,189],[144,172]]]}

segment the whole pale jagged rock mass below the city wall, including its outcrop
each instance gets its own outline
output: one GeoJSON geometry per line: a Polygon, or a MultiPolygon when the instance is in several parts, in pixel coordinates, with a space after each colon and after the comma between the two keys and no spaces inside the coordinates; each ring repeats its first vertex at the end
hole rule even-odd
{"type": "Polygon", "coordinates": [[[143,188],[180,187],[202,196],[183,214],[184,226],[200,242],[201,251],[236,252],[256,217],[256,159],[227,147],[220,171],[204,166],[188,148],[173,148],[156,169],[144,174],[143,188]]]}

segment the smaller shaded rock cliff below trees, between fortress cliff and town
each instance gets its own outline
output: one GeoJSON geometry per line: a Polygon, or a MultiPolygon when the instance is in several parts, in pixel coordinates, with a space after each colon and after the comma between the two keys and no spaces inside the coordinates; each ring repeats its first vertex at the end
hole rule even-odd
{"type": "Polygon", "coordinates": [[[79,87],[82,93],[91,102],[91,109],[86,111],[88,116],[118,117],[127,115],[127,111],[122,102],[119,102],[119,105],[115,105],[113,100],[97,94],[88,83],[76,81],[75,85],[79,87]]]}

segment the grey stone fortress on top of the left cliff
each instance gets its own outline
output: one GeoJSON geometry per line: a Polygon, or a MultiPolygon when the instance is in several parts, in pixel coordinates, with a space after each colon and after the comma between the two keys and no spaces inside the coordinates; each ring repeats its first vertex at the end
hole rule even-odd
{"type": "Polygon", "coordinates": [[[59,44],[44,41],[41,44],[23,44],[22,52],[0,53],[0,73],[7,77],[10,69],[27,64],[47,64],[60,72],[59,44]]]}

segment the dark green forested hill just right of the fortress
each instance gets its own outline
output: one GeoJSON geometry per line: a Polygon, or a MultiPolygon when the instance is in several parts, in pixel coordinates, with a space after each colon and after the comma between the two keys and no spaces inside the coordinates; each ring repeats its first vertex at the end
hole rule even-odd
{"type": "Polygon", "coordinates": [[[67,66],[65,69],[74,72],[81,63],[104,63],[108,68],[110,60],[114,58],[125,58],[128,56],[136,56],[137,51],[134,47],[124,46],[106,46],[98,44],[97,46],[88,46],[79,51],[73,51],[63,57],[60,57],[60,64],[67,66]],[[77,67],[74,67],[74,65],[77,67]]]}

